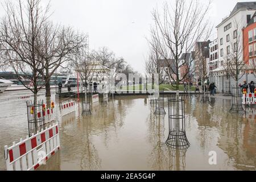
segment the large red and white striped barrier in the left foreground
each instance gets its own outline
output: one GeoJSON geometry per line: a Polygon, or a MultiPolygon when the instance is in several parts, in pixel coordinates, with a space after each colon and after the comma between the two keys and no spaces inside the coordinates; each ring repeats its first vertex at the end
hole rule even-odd
{"type": "Polygon", "coordinates": [[[60,150],[58,123],[30,138],[5,146],[7,171],[33,171],[60,150]]]}

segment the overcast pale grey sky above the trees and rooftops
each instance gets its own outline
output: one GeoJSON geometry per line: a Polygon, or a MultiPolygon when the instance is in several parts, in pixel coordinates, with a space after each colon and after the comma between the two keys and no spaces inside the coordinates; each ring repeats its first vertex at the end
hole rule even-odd
{"type": "MultiPolygon", "coordinates": [[[[242,1],[212,0],[210,20],[214,26],[229,15],[237,2],[242,1]]],[[[152,23],[151,11],[156,6],[160,9],[163,2],[164,0],[52,0],[51,19],[88,33],[90,49],[109,47],[117,56],[125,58],[136,71],[144,72],[148,46],[145,37],[148,36],[152,23]]],[[[2,7],[0,15],[4,15],[2,7]]],[[[216,34],[215,28],[213,34],[216,34]]]]}

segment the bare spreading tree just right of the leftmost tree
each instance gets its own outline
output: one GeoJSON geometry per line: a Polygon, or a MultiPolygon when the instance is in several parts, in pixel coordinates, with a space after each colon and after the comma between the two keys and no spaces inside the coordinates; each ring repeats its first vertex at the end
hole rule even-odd
{"type": "Polygon", "coordinates": [[[73,53],[82,46],[85,35],[76,33],[71,27],[54,26],[52,22],[43,24],[38,52],[43,60],[42,72],[46,82],[46,97],[51,96],[51,76],[65,62],[72,60],[73,53]]]}

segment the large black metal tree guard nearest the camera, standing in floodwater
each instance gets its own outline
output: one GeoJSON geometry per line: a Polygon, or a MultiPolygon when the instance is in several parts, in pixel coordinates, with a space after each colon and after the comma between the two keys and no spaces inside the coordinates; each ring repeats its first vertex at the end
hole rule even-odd
{"type": "Polygon", "coordinates": [[[168,98],[169,135],[166,140],[168,147],[184,149],[190,146],[185,131],[184,100],[185,97],[180,97],[179,94],[168,98]]]}

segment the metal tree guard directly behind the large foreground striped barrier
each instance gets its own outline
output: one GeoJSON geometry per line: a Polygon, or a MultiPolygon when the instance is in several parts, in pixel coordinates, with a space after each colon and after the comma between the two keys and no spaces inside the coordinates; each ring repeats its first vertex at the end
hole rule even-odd
{"type": "Polygon", "coordinates": [[[34,101],[26,101],[27,104],[27,119],[28,119],[28,135],[36,134],[38,131],[46,128],[44,117],[41,115],[43,111],[43,100],[39,100],[37,105],[34,101]]]}

